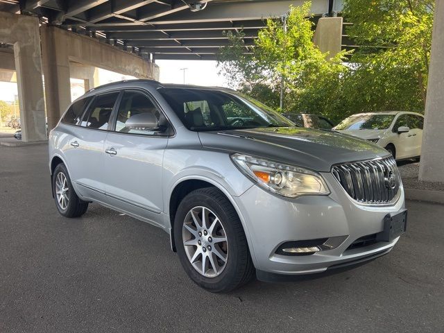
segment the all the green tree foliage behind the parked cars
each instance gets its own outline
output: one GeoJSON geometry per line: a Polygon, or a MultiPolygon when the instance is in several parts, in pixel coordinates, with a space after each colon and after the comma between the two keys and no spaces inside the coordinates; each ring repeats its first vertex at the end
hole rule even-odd
{"type": "Polygon", "coordinates": [[[344,0],[345,20],[354,23],[347,33],[361,47],[333,58],[312,42],[310,6],[289,9],[287,32],[281,19],[268,19],[254,46],[242,32],[226,33],[230,46],[218,66],[233,87],[278,108],[283,78],[284,111],[336,122],[359,112],[424,109],[434,1],[344,0]]]}

